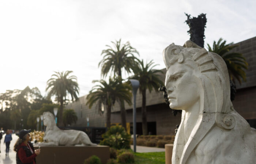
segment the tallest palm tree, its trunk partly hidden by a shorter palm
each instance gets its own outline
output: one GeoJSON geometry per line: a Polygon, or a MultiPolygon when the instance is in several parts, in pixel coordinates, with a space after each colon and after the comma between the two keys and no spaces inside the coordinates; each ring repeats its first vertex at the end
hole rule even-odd
{"type": "MultiPolygon", "coordinates": [[[[122,78],[122,69],[127,73],[131,73],[131,69],[136,65],[136,61],[138,60],[135,57],[135,54],[139,55],[139,52],[131,47],[129,42],[121,45],[121,39],[116,41],[114,44],[114,48],[106,45],[108,48],[106,50],[102,50],[101,55],[103,55],[103,59],[99,62],[99,66],[101,66],[101,75],[106,77],[108,73],[113,73],[114,76],[120,76],[122,78]]],[[[120,112],[121,112],[121,120],[122,126],[126,130],[126,111],[124,108],[124,101],[119,102],[120,104],[120,112]]]]}

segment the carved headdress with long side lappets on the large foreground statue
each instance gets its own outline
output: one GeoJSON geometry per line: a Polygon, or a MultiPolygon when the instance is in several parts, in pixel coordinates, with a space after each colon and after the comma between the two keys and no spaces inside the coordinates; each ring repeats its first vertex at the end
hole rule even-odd
{"type": "Polygon", "coordinates": [[[174,141],[173,162],[185,164],[195,147],[214,126],[231,130],[236,126],[236,119],[239,119],[243,126],[248,127],[249,124],[234,110],[230,101],[229,75],[221,56],[187,41],[184,46],[172,43],[166,47],[163,60],[167,70],[176,62],[197,69],[196,76],[202,86],[199,116],[187,142],[180,137],[184,135],[184,131],[180,130],[184,128],[185,112],[182,110],[181,124],[174,141]]]}

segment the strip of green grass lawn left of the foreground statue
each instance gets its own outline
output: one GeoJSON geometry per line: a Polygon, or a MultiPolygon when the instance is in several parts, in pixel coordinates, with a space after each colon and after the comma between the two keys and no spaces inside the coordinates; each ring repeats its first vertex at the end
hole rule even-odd
{"type": "Polygon", "coordinates": [[[134,153],[135,164],[165,164],[165,152],[134,153]]]}

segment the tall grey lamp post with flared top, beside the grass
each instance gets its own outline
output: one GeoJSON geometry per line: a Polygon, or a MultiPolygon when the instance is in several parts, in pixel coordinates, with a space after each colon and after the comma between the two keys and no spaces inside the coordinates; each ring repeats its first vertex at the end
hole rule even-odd
{"type": "Polygon", "coordinates": [[[132,83],[133,94],[133,151],[136,152],[136,94],[139,88],[140,82],[135,79],[129,80],[132,83]]]}

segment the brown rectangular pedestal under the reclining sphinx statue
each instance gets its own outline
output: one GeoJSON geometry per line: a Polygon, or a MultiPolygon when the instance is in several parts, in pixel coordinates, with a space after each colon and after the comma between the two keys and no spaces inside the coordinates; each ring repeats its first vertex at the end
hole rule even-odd
{"type": "MultiPolygon", "coordinates": [[[[34,147],[38,149],[38,147],[34,147]]],[[[46,146],[36,157],[37,164],[83,164],[92,155],[101,159],[103,164],[110,158],[108,146],[46,146]]]]}

